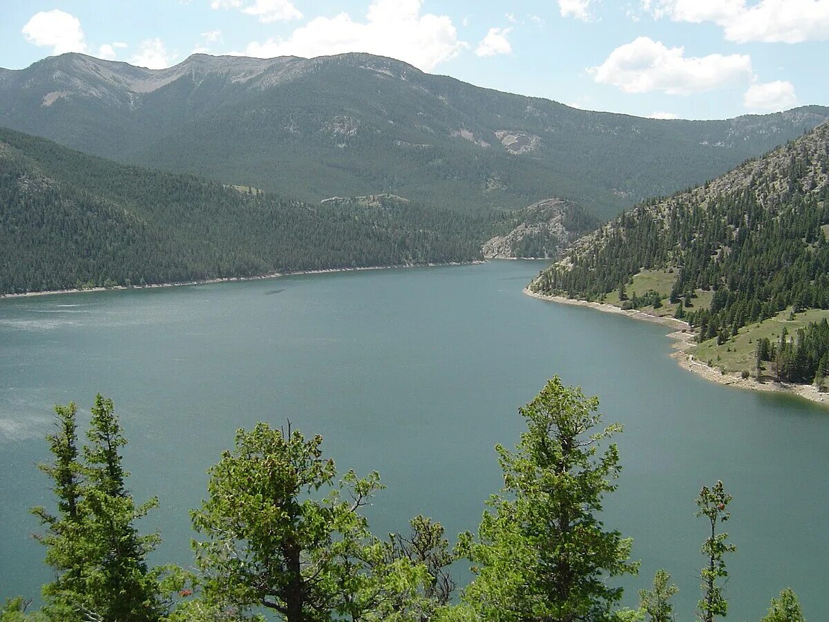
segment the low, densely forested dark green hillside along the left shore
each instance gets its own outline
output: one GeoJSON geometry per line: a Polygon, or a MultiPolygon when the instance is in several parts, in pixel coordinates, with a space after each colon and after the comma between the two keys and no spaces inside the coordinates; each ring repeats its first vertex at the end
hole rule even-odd
{"type": "Polygon", "coordinates": [[[382,199],[314,207],[0,128],[0,293],[476,260],[496,222],[382,199]]]}

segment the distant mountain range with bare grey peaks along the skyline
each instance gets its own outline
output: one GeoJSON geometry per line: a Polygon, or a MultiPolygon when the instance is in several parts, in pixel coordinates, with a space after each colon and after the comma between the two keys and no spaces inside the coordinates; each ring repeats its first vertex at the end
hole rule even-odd
{"type": "Polygon", "coordinates": [[[389,193],[486,211],[562,197],[609,217],[827,118],[829,109],[807,106],[722,121],[639,119],[367,54],[199,54],[148,70],[73,53],[0,71],[0,125],[313,203],[389,193]]]}

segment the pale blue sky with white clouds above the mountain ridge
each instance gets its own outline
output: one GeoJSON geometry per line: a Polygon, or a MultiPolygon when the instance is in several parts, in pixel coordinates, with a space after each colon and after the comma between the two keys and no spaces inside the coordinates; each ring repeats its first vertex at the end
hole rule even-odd
{"type": "Polygon", "coordinates": [[[829,0],[0,0],[0,66],[366,51],[638,116],[829,104],[829,0]]]}

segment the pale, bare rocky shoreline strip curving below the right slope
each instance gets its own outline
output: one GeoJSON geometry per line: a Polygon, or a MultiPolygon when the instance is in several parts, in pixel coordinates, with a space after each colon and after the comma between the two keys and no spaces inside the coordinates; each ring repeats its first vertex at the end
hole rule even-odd
{"type": "Polygon", "coordinates": [[[671,344],[674,352],[671,352],[671,358],[676,360],[676,363],[688,372],[695,373],[697,376],[703,377],[707,381],[716,382],[720,385],[733,386],[738,389],[746,391],[763,391],[766,393],[785,393],[790,396],[802,397],[805,400],[822,406],[829,406],[829,393],[821,393],[813,385],[798,385],[789,382],[764,381],[759,382],[754,377],[744,378],[739,372],[720,373],[720,370],[715,367],[708,367],[704,362],[694,357],[688,350],[695,345],[694,333],[691,332],[691,326],[687,322],[676,318],[664,318],[652,313],[638,311],[635,309],[620,309],[613,306],[613,304],[592,303],[587,300],[577,300],[565,298],[564,296],[550,296],[546,294],[537,294],[529,288],[524,288],[524,294],[537,298],[540,300],[547,300],[553,303],[570,304],[575,307],[589,307],[604,313],[615,313],[617,315],[625,315],[628,318],[638,319],[645,322],[652,322],[662,324],[674,330],[667,334],[674,343],[671,344]]]}

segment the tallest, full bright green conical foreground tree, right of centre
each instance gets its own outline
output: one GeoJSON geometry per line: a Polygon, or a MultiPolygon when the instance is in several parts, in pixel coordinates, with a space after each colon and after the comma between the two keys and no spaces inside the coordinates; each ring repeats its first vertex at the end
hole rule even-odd
{"type": "Polygon", "coordinates": [[[599,451],[621,428],[596,430],[598,404],[555,377],[521,408],[516,450],[497,446],[504,489],[458,544],[475,575],[463,600],[482,620],[606,620],[622,596],[608,576],[637,571],[631,541],[598,518],[621,469],[615,444],[599,451]]]}

